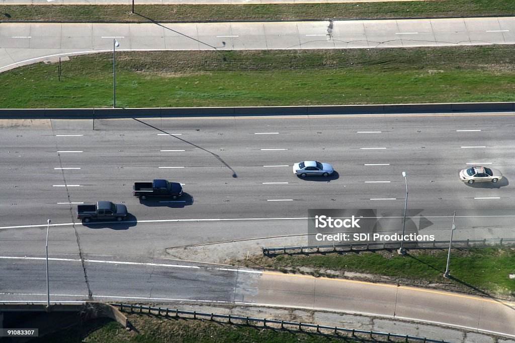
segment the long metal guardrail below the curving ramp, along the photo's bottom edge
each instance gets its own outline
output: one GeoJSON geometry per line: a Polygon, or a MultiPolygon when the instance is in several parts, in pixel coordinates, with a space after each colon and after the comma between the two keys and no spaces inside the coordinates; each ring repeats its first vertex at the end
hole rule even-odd
{"type": "Polygon", "coordinates": [[[426,338],[426,337],[417,337],[417,336],[409,336],[409,335],[400,335],[400,334],[393,334],[393,333],[387,333],[387,332],[375,332],[375,331],[367,331],[367,330],[358,330],[358,329],[347,329],[347,328],[339,328],[339,327],[329,327],[324,325],[318,325],[318,324],[308,324],[308,323],[301,323],[301,322],[294,322],[294,321],[284,321],[284,320],[274,320],[274,319],[266,319],[266,318],[252,318],[252,317],[242,317],[242,316],[233,316],[233,315],[226,315],[226,314],[214,314],[214,313],[203,313],[203,312],[196,312],[196,311],[182,311],[182,310],[170,310],[170,309],[162,309],[162,308],[152,308],[151,306],[143,306],[143,305],[129,305],[129,304],[117,304],[117,303],[110,303],[110,305],[118,307],[120,311],[123,311],[123,309],[130,309],[131,312],[139,312],[143,313],[143,311],[146,311],[146,313],[151,313],[151,311],[158,312],[158,315],[164,315],[168,317],[170,314],[174,315],[176,318],[179,317],[179,314],[185,314],[193,316],[194,319],[197,319],[197,316],[200,317],[209,317],[210,320],[213,320],[214,318],[222,318],[227,319],[229,323],[232,323],[231,320],[241,320],[244,321],[245,324],[249,324],[249,322],[262,322],[263,326],[266,327],[267,323],[270,324],[281,324],[281,329],[284,329],[284,326],[291,326],[291,327],[297,327],[299,330],[302,330],[302,328],[311,328],[316,329],[317,332],[320,332],[320,329],[323,330],[331,330],[335,334],[337,332],[345,332],[350,333],[353,336],[355,334],[364,334],[372,336],[383,336],[386,337],[388,340],[390,338],[400,338],[404,339],[406,342],[408,339],[410,340],[416,340],[416,341],[422,341],[422,342],[434,342],[434,343],[451,343],[442,339],[433,339],[433,338],[426,338]],[[139,310],[139,311],[138,311],[139,310]]]}

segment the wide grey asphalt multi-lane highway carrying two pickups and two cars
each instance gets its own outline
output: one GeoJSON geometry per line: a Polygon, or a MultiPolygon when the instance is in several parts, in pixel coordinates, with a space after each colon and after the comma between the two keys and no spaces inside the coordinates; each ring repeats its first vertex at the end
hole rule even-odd
{"type": "MultiPolygon", "coordinates": [[[[307,233],[307,210],[394,213],[376,232],[512,239],[512,114],[2,121],[0,251],[161,256],[167,247],[307,233]],[[466,131],[462,131],[466,130],[466,131]],[[270,150],[271,149],[271,150],[270,150]],[[331,163],[328,178],[293,163],[331,163]],[[462,183],[471,165],[500,169],[496,184],[462,183]],[[165,167],[165,168],[163,168],[165,167]],[[139,201],[135,181],[166,178],[185,194],[139,201]],[[82,223],[81,203],[123,203],[123,223],[82,223]],[[75,229],[74,229],[75,228],[75,229]],[[7,244],[8,242],[8,244],[7,244]]],[[[371,232],[368,228],[355,232],[371,232]],[[367,231],[368,230],[368,231],[367,231]]],[[[375,231],[374,231],[375,232],[375,231]]],[[[305,237],[299,238],[303,244],[305,237]]],[[[305,244],[305,243],[304,243],[305,244]]]]}

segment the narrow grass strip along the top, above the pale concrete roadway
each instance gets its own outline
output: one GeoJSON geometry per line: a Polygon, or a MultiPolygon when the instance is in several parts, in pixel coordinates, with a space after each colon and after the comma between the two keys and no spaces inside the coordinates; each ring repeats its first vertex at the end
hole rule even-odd
{"type": "Polygon", "coordinates": [[[512,0],[275,5],[45,5],[0,6],[2,21],[214,22],[513,15],[512,0]]]}

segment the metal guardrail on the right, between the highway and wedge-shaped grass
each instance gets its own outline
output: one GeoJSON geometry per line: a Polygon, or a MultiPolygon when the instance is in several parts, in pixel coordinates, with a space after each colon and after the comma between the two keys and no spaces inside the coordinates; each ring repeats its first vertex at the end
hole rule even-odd
{"type": "MultiPolygon", "coordinates": [[[[453,248],[484,248],[488,246],[497,247],[509,247],[514,243],[515,238],[501,238],[501,239],[482,239],[482,240],[465,240],[465,241],[452,241],[453,248]],[[508,243],[508,244],[506,244],[508,243]]],[[[262,247],[263,255],[269,255],[270,253],[282,252],[286,254],[286,251],[300,250],[300,252],[322,252],[330,251],[342,251],[342,250],[353,250],[353,248],[362,248],[362,250],[386,250],[386,249],[398,249],[400,248],[400,242],[373,242],[373,243],[346,243],[346,244],[332,244],[332,245],[301,245],[301,246],[285,246],[281,248],[267,248],[262,247]],[[340,249],[340,250],[338,250],[340,249]],[[315,250],[315,251],[306,251],[315,250]]],[[[406,249],[442,249],[449,247],[449,241],[419,241],[419,242],[404,242],[406,249]],[[415,245],[415,246],[412,246],[415,245]]]]}

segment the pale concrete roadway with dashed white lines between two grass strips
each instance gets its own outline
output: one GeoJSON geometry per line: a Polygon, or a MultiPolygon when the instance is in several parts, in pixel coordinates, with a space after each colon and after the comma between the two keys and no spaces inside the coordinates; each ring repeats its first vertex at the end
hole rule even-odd
{"type": "Polygon", "coordinates": [[[180,24],[0,23],[0,72],[96,52],[350,49],[515,43],[515,17],[180,24]]]}

